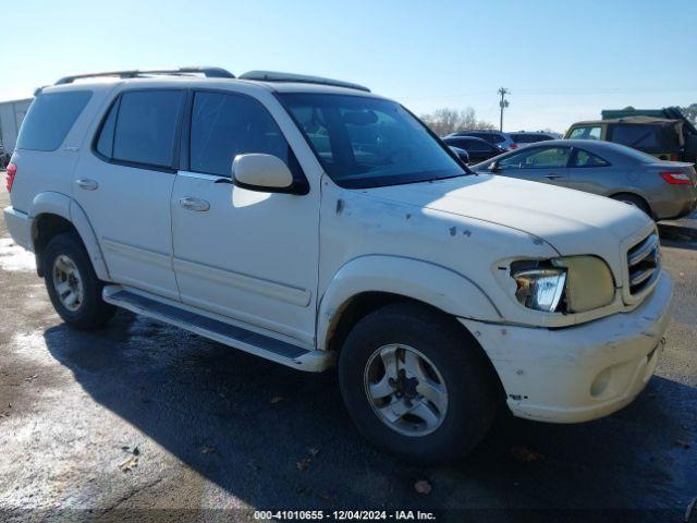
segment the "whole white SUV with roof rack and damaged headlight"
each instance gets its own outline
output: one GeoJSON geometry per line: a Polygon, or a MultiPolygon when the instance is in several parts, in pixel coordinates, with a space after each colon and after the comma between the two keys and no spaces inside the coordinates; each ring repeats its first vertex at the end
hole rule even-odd
{"type": "Polygon", "coordinates": [[[8,170],[8,229],[69,325],[119,306],[301,370],[338,362],[360,431],[423,462],[469,451],[503,399],[583,422],[651,377],[672,284],[639,210],[473,174],[354,84],[101,76],[41,89],[8,170]]]}

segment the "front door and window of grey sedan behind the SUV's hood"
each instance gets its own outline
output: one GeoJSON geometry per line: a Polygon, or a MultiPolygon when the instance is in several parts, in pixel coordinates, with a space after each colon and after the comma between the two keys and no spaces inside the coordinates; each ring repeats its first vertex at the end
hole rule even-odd
{"type": "Polygon", "coordinates": [[[567,184],[568,146],[525,147],[497,162],[498,174],[553,185],[567,184]]]}

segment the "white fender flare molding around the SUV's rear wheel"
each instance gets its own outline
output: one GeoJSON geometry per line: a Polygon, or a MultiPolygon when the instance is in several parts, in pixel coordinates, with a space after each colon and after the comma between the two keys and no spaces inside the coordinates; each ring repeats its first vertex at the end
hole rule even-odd
{"type": "Polygon", "coordinates": [[[47,191],[37,194],[29,209],[32,239],[36,238],[36,218],[47,214],[65,218],[77,229],[77,233],[85,244],[89,259],[91,259],[93,266],[95,267],[97,277],[99,277],[100,280],[110,281],[111,278],[109,277],[109,270],[101,254],[101,248],[97,242],[97,235],[80,204],[62,193],[47,191]]]}

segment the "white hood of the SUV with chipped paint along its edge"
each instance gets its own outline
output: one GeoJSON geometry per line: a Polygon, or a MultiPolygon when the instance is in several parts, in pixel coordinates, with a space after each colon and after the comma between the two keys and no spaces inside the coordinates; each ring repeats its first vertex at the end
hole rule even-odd
{"type": "Polygon", "coordinates": [[[610,198],[492,174],[377,187],[367,193],[524,231],[562,255],[598,254],[616,259],[620,243],[655,227],[640,210],[610,198]]]}

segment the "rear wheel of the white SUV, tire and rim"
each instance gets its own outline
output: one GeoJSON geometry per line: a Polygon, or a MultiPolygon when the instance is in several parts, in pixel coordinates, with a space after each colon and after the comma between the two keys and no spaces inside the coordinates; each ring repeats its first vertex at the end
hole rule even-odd
{"type": "Polygon", "coordinates": [[[75,232],[53,236],[41,262],[46,290],[63,321],[89,330],[102,327],[111,319],[115,307],[101,299],[103,283],[97,278],[89,255],[75,232]]]}

